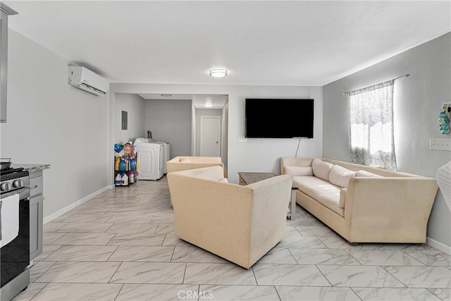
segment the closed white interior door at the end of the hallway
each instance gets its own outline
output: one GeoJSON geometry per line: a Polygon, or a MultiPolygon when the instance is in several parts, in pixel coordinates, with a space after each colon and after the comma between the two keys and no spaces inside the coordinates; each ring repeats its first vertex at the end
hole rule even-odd
{"type": "Polygon", "coordinates": [[[221,116],[201,116],[200,155],[221,156],[221,116]]]}

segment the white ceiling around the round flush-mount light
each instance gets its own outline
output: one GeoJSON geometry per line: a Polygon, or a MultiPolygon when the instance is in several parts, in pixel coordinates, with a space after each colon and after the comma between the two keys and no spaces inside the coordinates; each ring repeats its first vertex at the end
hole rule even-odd
{"type": "Polygon", "coordinates": [[[111,82],[322,86],[451,31],[450,1],[4,3],[12,30],[111,82]]]}

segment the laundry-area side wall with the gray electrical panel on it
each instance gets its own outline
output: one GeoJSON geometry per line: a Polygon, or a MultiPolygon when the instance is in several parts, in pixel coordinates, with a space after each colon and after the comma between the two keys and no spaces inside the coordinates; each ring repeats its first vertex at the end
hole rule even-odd
{"type": "Polygon", "coordinates": [[[144,135],[144,99],[137,94],[116,94],[115,143],[135,142],[144,135]],[[127,112],[128,127],[122,129],[122,111],[127,112]]]}

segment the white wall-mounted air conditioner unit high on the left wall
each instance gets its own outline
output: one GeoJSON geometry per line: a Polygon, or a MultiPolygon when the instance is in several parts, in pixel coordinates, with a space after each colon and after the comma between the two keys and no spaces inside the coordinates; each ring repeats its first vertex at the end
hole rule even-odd
{"type": "Polygon", "coordinates": [[[106,94],[109,87],[104,78],[82,66],[69,66],[69,85],[95,95],[106,94]]]}

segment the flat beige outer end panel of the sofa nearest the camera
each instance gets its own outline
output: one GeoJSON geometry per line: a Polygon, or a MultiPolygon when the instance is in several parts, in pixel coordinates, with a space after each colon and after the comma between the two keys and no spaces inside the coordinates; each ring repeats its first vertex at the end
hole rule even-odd
{"type": "Polygon", "coordinates": [[[351,235],[384,232],[406,242],[426,241],[426,226],[438,186],[433,178],[351,178],[345,220],[351,235]]]}

